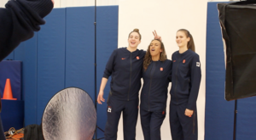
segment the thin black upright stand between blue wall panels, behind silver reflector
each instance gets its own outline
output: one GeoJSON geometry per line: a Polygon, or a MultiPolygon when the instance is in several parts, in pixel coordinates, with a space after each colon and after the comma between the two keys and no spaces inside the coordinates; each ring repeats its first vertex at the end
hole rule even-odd
{"type": "MultiPolygon", "coordinates": [[[[96,77],[96,72],[97,72],[97,64],[96,64],[96,0],[95,0],[95,8],[94,8],[94,10],[95,10],[95,21],[94,21],[94,49],[95,49],[95,51],[94,51],[94,95],[95,95],[95,109],[96,109],[96,112],[97,112],[97,88],[96,88],[96,84],[97,84],[97,77],[96,77]]],[[[96,121],[97,122],[97,121],[96,121]]],[[[93,139],[93,140],[100,140],[100,139],[103,139],[103,138],[105,138],[105,137],[101,137],[101,138],[97,138],[97,129],[99,129],[99,130],[101,130],[102,132],[104,132],[103,130],[102,130],[102,128],[100,128],[99,126],[97,126],[97,124],[96,124],[96,129],[95,129],[95,139],[93,139]]]]}

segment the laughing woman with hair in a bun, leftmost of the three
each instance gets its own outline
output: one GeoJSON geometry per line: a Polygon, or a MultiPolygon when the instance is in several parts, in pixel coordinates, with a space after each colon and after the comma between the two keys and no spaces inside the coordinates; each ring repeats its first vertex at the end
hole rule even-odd
{"type": "Polygon", "coordinates": [[[143,50],[137,49],[141,38],[142,36],[138,29],[131,31],[128,36],[128,48],[113,50],[108,59],[97,98],[98,104],[102,104],[105,101],[103,91],[108,77],[112,76],[107,102],[108,120],[105,128],[105,140],[117,139],[121,113],[123,113],[124,139],[135,140],[138,92],[141,88],[143,58],[145,55],[143,50]]]}

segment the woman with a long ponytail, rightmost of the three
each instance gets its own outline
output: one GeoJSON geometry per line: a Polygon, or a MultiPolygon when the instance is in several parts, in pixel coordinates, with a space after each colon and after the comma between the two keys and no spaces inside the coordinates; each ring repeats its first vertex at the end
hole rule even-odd
{"type": "Polygon", "coordinates": [[[170,126],[173,140],[197,140],[196,100],[201,83],[201,63],[192,35],[177,31],[179,50],[172,53],[170,126]]]}

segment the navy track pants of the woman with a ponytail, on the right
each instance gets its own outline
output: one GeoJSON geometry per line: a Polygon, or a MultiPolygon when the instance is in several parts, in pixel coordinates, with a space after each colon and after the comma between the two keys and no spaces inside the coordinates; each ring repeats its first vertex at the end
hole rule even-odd
{"type": "Polygon", "coordinates": [[[191,117],[185,115],[187,104],[170,104],[172,140],[197,140],[196,110],[191,117]]]}

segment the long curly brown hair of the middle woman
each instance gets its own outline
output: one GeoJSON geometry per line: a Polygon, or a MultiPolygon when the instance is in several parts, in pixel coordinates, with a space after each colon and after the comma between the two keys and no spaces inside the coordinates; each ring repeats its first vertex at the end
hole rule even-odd
{"type": "MultiPolygon", "coordinates": [[[[166,57],[166,49],[165,49],[164,43],[161,42],[159,39],[154,39],[154,40],[160,42],[160,49],[162,49],[162,52],[160,53],[159,60],[160,61],[165,61],[167,57],[166,57]]],[[[152,40],[151,42],[153,42],[154,40],[152,40]]],[[[151,42],[150,42],[150,44],[151,44],[151,42]]],[[[148,69],[148,65],[152,61],[152,57],[150,55],[150,44],[148,45],[148,49],[147,49],[147,52],[146,52],[144,60],[143,60],[143,68],[144,68],[145,71],[148,69]]]]}

